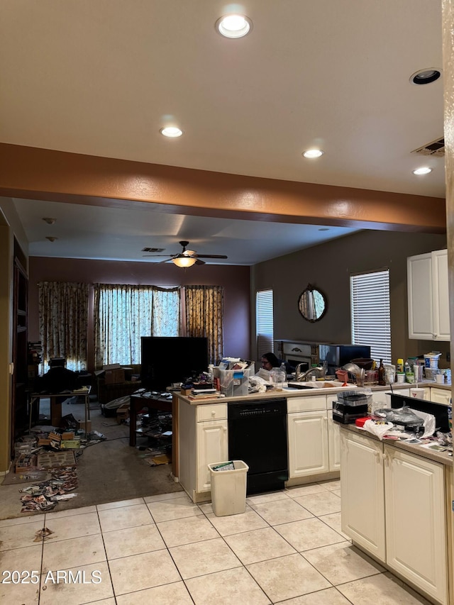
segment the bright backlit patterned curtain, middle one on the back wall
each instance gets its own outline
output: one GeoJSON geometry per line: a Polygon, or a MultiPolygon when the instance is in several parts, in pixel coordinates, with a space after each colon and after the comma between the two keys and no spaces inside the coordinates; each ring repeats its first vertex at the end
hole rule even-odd
{"type": "Polygon", "coordinates": [[[179,336],[179,287],[94,284],[95,367],[140,363],[141,336],[179,336]]]}

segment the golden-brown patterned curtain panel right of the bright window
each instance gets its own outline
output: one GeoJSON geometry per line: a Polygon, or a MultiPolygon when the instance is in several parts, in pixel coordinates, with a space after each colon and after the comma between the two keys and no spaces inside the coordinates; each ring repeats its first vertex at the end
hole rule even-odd
{"type": "Polygon", "coordinates": [[[223,357],[223,287],[186,286],[186,333],[208,338],[209,362],[223,357]]]}

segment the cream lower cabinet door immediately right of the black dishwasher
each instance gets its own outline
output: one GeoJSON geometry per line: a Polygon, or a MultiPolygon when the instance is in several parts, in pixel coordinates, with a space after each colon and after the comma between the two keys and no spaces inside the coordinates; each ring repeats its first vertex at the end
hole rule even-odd
{"type": "MultiPolygon", "coordinates": [[[[325,404],[326,405],[326,404],[325,404]]],[[[326,409],[289,413],[289,477],[328,472],[328,418],[326,409]]]]}

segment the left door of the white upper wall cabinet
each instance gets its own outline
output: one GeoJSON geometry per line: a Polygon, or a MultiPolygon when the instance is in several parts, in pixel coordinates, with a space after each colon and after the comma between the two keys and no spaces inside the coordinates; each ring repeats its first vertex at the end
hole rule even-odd
{"type": "Polygon", "coordinates": [[[409,338],[433,340],[432,255],[406,259],[409,338]]]}

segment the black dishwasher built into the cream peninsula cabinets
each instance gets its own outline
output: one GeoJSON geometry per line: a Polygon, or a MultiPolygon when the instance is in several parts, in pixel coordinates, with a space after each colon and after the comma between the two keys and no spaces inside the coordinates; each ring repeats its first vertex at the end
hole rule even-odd
{"type": "Polygon", "coordinates": [[[284,489],[289,478],[287,399],[229,403],[228,458],[248,465],[247,494],[284,489]]]}

